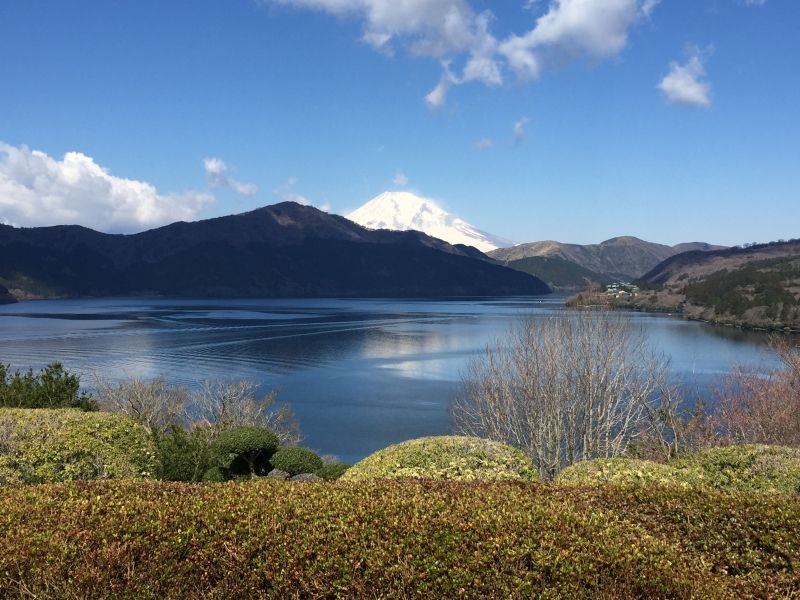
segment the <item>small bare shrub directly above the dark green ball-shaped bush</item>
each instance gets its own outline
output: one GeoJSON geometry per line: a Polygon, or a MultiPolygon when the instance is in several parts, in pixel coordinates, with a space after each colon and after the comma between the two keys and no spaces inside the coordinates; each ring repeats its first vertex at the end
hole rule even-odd
{"type": "Polygon", "coordinates": [[[251,381],[204,381],[191,394],[196,426],[222,430],[239,425],[254,425],[273,431],[281,445],[296,445],[302,439],[292,410],[285,404],[275,406],[276,393],[257,395],[251,381]]]}

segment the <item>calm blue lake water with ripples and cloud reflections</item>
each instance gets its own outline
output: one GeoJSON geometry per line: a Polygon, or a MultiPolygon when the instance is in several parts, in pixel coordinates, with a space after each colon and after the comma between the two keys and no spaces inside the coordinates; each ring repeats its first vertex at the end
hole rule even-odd
{"type": "MultiPolygon", "coordinates": [[[[0,361],[60,361],[91,388],[165,375],[196,385],[246,378],[278,389],[305,439],[355,461],[450,431],[447,408],[475,353],[520,317],[565,310],[558,296],[455,300],[43,300],[0,306],[0,361]]],[[[737,365],[769,367],[766,336],[631,313],[672,375],[704,397],[737,365]]]]}

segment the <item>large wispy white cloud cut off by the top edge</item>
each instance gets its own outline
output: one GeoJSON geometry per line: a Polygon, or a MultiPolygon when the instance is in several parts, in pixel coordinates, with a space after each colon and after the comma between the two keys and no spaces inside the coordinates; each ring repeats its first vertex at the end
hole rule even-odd
{"type": "MultiPolygon", "coordinates": [[[[502,85],[505,71],[532,80],[543,68],[569,60],[612,58],[625,48],[629,29],[660,2],[550,0],[531,29],[499,39],[491,32],[491,12],[477,11],[470,0],[259,1],[356,18],[363,23],[362,40],[372,48],[392,54],[401,47],[414,56],[439,60],[442,77],[425,96],[433,110],[445,104],[453,86],[502,85]]],[[[518,1],[523,8],[538,8],[538,2],[518,1]]]]}

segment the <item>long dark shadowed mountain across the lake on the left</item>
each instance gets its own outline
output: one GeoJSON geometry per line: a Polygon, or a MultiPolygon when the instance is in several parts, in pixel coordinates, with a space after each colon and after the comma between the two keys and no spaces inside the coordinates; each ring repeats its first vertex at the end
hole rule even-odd
{"type": "Polygon", "coordinates": [[[284,202],[133,235],[0,225],[0,284],[17,297],[543,294],[539,279],[416,231],[372,231],[284,202]]]}

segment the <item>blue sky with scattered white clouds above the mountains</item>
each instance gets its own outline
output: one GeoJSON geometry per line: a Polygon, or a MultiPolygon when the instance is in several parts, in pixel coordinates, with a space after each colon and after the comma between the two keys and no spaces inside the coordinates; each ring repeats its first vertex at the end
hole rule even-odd
{"type": "Polygon", "coordinates": [[[386,190],[515,242],[800,237],[797,0],[3,0],[0,222],[386,190]]]}

